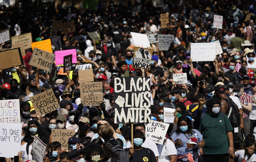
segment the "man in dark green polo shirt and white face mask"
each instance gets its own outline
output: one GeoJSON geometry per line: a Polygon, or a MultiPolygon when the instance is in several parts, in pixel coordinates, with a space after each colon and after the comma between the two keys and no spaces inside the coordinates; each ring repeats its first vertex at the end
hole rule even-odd
{"type": "Polygon", "coordinates": [[[218,99],[212,98],[206,103],[208,111],[201,115],[198,131],[205,139],[205,146],[199,149],[204,161],[228,162],[229,156],[234,153],[233,128],[228,117],[220,113],[220,105],[218,99]]]}

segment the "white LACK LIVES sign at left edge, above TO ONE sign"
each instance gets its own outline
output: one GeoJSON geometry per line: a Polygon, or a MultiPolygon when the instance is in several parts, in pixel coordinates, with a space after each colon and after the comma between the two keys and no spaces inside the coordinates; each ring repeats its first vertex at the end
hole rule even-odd
{"type": "Polygon", "coordinates": [[[0,100],[0,106],[0,123],[21,123],[19,99],[0,100]]]}

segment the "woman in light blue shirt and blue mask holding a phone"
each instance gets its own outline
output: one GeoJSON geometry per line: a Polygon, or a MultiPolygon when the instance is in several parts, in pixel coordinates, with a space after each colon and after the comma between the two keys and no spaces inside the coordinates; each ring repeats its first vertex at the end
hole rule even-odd
{"type": "Polygon", "coordinates": [[[197,161],[198,150],[205,144],[203,136],[196,129],[192,129],[191,120],[187,116],[179,118],[177,128],[177,131],[171,137],[178,154],[177,162],[197,161]]]}

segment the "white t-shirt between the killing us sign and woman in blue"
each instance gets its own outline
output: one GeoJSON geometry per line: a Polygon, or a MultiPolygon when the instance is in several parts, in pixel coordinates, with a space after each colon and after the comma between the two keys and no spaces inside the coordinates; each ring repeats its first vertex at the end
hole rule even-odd
{"type": "Polygon", "coordinates": [[[160,154],[160,156],[158,156],[158,162],[170,162],[169,155],[177,155],[175,145],[169,139],[167,139],[166,145],[158,144],[157,148],[160,154]]]}

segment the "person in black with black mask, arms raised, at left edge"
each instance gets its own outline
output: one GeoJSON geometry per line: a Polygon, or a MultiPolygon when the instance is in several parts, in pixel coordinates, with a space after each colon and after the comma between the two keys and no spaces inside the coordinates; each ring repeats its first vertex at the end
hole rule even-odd
{"type": "MultiPolygon", "coordinates": [[[[27,89],[27,77],[21,72],[20,68],[18,66],[14,66],[18,73],[21,75],[23,82],[20,88],[18,88],[18,81],[16,79],[11,79],[10,81],[10,89],[4,88],[3,85],[0,85],[0,90],[4,92],[5,94],[11,94],[14,99],[19,99],[21,95],[25,95],[26,89],[27,89]]],[[[3,69],[0,70],[0,75],[2,74],[3,69]]]]}

